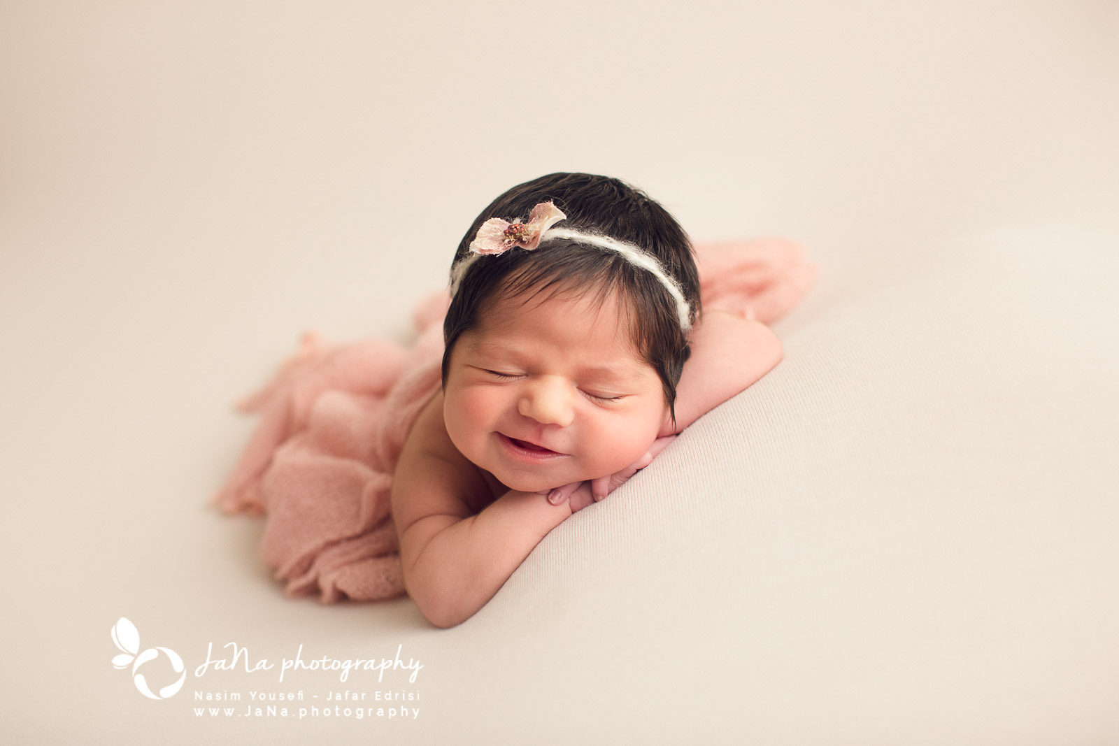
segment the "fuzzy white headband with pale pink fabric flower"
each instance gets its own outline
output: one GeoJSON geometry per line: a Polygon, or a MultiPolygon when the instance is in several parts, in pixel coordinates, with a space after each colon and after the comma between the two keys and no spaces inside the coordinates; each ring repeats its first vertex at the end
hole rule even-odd
{"type": "Polygon", "coordinates": [[[509,223],[501,218],[490,218],[483,223],[478,229],[478,235],[470,242],[470,254],[467,254],[451,267],[451,295],[453,296],[459,290],[459,283],[462,282],[470,265],[483,254],[504,254],[517,246],[530,252],[546,240],[566,238],[579,244],[615,252],[630,264],[652,273],[676,301],[676,317],[680,322],[680,329],[688,331],[692,328],[692,306],[684,298],[684,291],[680,290],[679,283],[665,272],[665,267],[661,266],[656,256],[639,246],[609,236],[552,227],[566,217],[552,202],[540,202],[533,208],[528,216],[528,223],[509,223]]]}

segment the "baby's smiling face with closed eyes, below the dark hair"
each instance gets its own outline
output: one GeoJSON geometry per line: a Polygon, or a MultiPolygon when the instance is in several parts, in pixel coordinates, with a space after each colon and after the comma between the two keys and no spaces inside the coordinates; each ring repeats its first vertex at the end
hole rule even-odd
{"type": "Polygon", "coordinates": [[[462,455],[526,492],[640,459],[669,414],[620,310],[570,293],[496,303],[450,359],[443,419],[462,455]]]}

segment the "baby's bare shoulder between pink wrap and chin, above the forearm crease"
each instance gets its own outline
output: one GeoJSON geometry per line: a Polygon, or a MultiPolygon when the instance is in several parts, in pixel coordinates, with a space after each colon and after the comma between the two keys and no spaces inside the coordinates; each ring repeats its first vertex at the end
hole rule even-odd
{"type": "Polygon", "coordinates": [[[393,474],[397,532],[427,516],[474,516],[492,500],[481,471],[446,434],[443,395],[436,393],[416,417],[393,474]]]}

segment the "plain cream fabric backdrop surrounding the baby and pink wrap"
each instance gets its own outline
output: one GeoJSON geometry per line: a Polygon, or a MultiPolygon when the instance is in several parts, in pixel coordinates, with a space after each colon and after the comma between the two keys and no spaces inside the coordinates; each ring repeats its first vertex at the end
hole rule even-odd
{"type": "Polygon", "coordinates": [[[1117,8],[0,3],[0,740],[1119,742],[1117,8]],[[786,361],[460,627],[285,599],[206,504],[231,404],[303,330],[406,339],[478,210],[556,170],[806,245],[786,361]],[[938,368],[956,330],[975,365],[938,368]],[[904,468],[858,491],[859,459],[904,468]],[[113,668],[122,616],[178,695],[113,668]],[[198,677],[229,642],[274,668],[198,677]],[[280,682],[300,645],[423,668],[280,682]],[[325,715],[346,690],[419,699],[325,715]]]}

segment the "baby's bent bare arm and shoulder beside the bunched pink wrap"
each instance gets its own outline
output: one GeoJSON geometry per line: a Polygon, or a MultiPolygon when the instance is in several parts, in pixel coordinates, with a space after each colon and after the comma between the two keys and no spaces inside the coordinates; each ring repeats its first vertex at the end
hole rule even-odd
{"type": "Polygon", "coordinates": [[[472,616],[572,513],[566,503],[510,491],[474,514],[468,498],[489,502],[490,494],[478,469],[451,444],[436,394],[416,419],[393,478],[404,585],[436,626],[472,616]]]}

